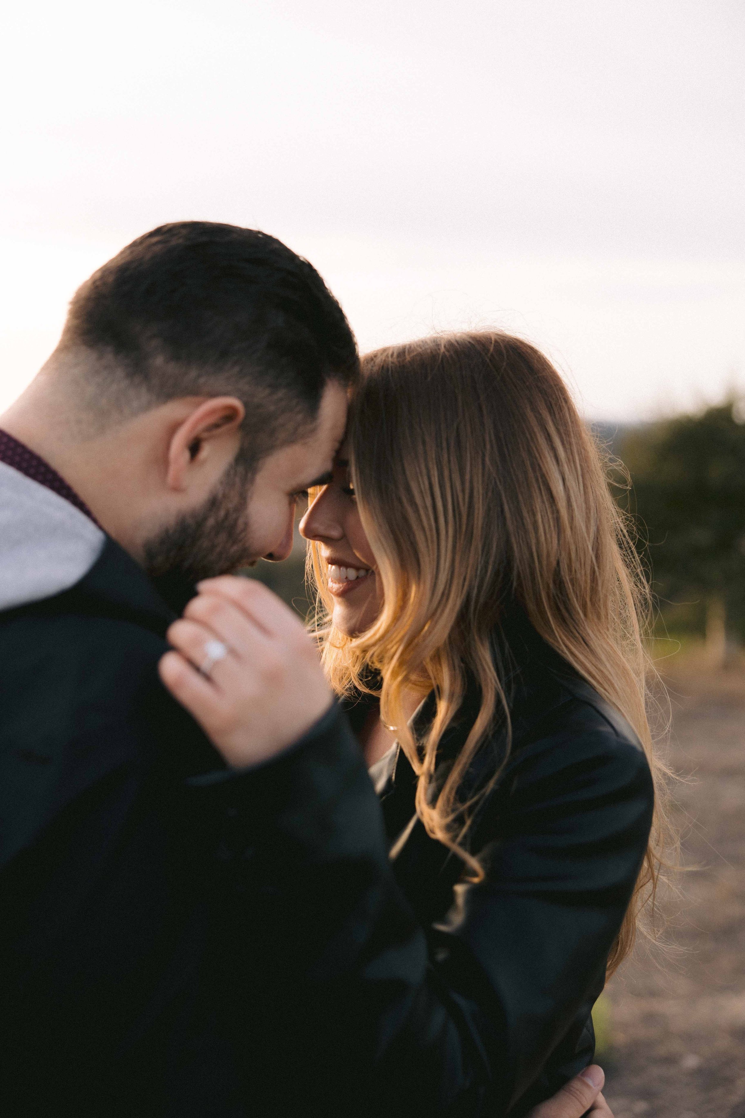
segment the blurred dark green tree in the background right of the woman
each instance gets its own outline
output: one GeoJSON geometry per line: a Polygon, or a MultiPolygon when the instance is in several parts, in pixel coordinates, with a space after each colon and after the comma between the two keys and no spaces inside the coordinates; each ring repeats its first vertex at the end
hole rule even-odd
{"type": "MultiPolygon", "coordinates": [[[[614,451],[629,470],[625,506],[640,528],[661,601],[705,605],[707,653],[726,655],[745,596],[745,418],[736,400],[627,429],[614,451]]],[[[663,612],[663,610],[662,610],[663,612]]]]}

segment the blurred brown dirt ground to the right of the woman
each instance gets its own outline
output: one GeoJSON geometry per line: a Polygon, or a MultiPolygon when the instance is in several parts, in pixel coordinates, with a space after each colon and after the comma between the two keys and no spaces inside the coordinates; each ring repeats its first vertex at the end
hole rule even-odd
{"type": "MultiPolygon", "coordinates": [[[[675,665],[675,657],[672,661],[675,665]]],[[[684,860],[668,957],[637,950],[599,1054],[615,1118],[745,1118],[745,665],[668,667],[684,860]]]]}

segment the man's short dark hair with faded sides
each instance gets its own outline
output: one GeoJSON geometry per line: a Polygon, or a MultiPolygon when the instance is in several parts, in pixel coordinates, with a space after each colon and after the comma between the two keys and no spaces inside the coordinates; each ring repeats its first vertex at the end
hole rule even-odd
{"type": "Polygon", "coordinates": [[[78,288],[61,351],[103,359],[94,407],[136,413],[183,396],[237,396],[254,463],[298,437],[328,380],[359,359],[341,306],[316,269],[276,237],[178,221],[137,237],[78,288]]]}

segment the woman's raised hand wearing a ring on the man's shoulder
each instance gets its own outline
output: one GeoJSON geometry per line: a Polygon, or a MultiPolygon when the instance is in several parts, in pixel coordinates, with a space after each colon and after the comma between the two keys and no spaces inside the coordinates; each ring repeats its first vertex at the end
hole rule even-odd
{"type": "Polygon", "coordinates": [[[255,579],[226,575],[169,628],[165,686],[235,768],[267,760],[308,730],[332,693],[299,619],[255,579]]]}

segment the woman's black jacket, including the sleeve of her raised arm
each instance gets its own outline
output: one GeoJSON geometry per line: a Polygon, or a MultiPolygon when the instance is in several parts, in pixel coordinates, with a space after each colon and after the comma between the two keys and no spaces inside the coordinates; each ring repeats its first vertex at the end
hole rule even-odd
{"type": "Polygon", "coordinates": [[[423,928],[336,709],[280,758],[192,786],[225,819],[233,1012],[265,1052],[252,1089],[271,1114],[355,1118],[509,1109],[602,984],[652,805],[643,752],[612,727],[532,742],[479,824],[485,879],[423,928]]]}

